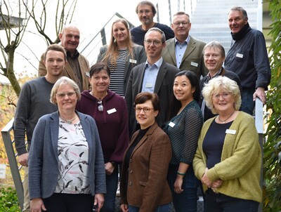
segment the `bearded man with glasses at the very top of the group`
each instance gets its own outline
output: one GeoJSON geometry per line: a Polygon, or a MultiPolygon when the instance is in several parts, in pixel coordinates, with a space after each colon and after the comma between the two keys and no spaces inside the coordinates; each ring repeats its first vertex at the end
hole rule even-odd
{"type": "Polygon", "coordinates": [[[174,37],[171,27],[153,21],[156,15],[156,8],[150,1],[141,1],[136,6],[136,14],[141,21],[141,25],[131,29],[133,43],[144,46],[145,33],[152,27],[161,29],[167,39],[174,37]]]}

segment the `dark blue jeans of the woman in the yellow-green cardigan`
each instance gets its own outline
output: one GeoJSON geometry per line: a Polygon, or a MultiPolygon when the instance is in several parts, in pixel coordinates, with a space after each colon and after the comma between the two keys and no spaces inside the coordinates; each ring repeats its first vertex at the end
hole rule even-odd
{"type": "Polygon", "coordinates": [[[205,212],[257,212],[259,202],[215,194],[211,189],[205,195],[205,212]]]}

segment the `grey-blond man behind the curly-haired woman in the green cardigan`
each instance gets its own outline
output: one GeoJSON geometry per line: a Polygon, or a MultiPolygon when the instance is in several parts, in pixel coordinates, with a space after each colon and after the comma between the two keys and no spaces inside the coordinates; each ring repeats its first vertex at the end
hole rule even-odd
{"type": "Polygon", "coordinates": [[[200,80],[200,102],[199,105],[202,110],[202,114],[204,117],[204,121],[215,117],[216,114],[213,114],[211,110],[206,106],[205,100],[202,95],[202,89],[204,85],[207,84],[211,79],[218,76],[228,77],[229,79],[233,79],[236,81],[237,85],[241,90],[241,82],[237,74],[234,72],[230,72],[223,68],[223,62],[226,58],[226,51],[223,46],[217,41],[211,41],[203,48],[203,56],[204,56],[204,64],[209,70],[209,73],[200,80]]]}

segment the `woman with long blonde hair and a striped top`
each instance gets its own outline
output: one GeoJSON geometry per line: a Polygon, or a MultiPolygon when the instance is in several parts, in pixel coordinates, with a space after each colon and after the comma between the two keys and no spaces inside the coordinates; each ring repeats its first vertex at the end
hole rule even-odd
{"type": "Polygon", "coordinates": [[[100,48],[97,60],[110,67],[110,90],[124,96],[131,69],[145,60],[143,46],[131,41],[128,22],[124,19],[115,20],[111,28],[110,44],[100,48]]]}

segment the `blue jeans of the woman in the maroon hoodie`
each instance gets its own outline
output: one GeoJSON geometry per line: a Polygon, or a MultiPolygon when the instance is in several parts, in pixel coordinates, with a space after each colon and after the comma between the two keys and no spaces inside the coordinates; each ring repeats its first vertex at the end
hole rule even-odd
{"type": "Polygon", "coordinates": [[[101,212],[114,212],[115,211],[115,199],[116,191],[118,186],[118,166],[115,167],[115,170],[111,175],[106,175],[106,194],[105,194],[105,203],[101,212]]]}

